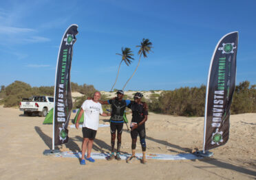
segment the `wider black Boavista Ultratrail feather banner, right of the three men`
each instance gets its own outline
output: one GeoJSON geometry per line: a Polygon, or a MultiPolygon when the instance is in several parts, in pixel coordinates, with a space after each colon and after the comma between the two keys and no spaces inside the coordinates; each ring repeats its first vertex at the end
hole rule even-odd
{"type": "Polygon", "coordinates": [[[204,117],[204,150],[228,141],[229,117],[235,91],[238,32],[226,34],[217,44],[209,68],[204,117]]]}

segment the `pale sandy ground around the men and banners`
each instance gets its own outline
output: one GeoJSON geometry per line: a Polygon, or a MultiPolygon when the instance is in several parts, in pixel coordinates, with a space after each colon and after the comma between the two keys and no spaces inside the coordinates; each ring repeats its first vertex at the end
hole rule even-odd
{"type": "MultiPolygon", "coordinates": [[[[72,114],[74,118],[75,114],[72,114]]],[[[131,116],[128,115],[129,120],[131,116]]],[[[52,144],[52,125],[44,118],[23,116],[14,108],[0,106],[0,179],[256,179],[256,114],[231,116],[228,143],[213,149],[213,157],[193,160],[148,159],[127,164],[125,160],[96,159],[79,164],[77,158],[43,155],[52,144]]],[[[202,149],[202,117],[175,117],[149,113],[147,152],[177,155],[202,149]]],[[[100,118],[100,123],[107,120],[100,118]]],[[[61,151],[81,151],[81,129],[70,128],[70,142],[61,151]]],[[[109,127],[98,129],[93,152],[110,151],[109,127]]],[[[122,153],[131,153],[129,132],[122,134],[122,153]]],[[[137,143],[138,153],[141,153],[137,143]]]]}

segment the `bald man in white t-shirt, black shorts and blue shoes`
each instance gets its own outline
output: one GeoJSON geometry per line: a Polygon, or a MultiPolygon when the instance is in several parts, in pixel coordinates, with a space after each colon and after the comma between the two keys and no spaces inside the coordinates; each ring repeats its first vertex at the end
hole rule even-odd
{"type": "Polygon", "coordinates": [[[106,114],[103,112],[101,104],[98,103],[100,99],[100,92],[94,93],[94,98],[92,100],[85,100],[83,105],[81,106],[81,110],[78,114],[78,118],[76,120],[76,129],[79,127],[79,120],[84,113],[84,121],[83,121],[83,144],[82,144],[82,158],[81,165],[85,165],[85,159],[89,162],[95,162],[91,157],[92,152],[92,144],[94,143],[94,139],[98,130],[98,120],[99,115],[101,116],[110,116],[110,114],[106,114]],[[87,149],[87,157],[85,158],[85,151],[87,149]]]}

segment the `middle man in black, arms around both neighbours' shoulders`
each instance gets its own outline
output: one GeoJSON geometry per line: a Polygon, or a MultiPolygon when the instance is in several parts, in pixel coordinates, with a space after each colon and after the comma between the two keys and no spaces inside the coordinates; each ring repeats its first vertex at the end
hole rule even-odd
{"type": "Polygon", "coordinates": [[[115,99],[109,99],[108,101],[98,101],[101,104],[109,104],[111,105],[111,118],[110,118],[110,131],[111,131],[111,155],[107,158],[118,159],[120,160],[120,147],[121,147],[121,139],[122,139],[122,127],[124,123],[124,112],[125,107],[131,103],[130,100],[123,100],[124,92],[122,90],[118,90],[116,92],[117,97],[115,99]],[[116,156],[114,155],[114,147],[116,140],[116,131],[117,131],[117,150],[116,156]]]}

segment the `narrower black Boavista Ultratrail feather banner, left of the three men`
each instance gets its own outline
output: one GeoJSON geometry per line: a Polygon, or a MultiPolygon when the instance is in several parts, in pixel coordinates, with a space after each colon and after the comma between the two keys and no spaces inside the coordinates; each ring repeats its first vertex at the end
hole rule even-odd
{"type": "Polygon", "coordinates": [[[78,25],[70,25],[65,31],[58,51],[54,91],[54,146],[68,142],[67,125],[72,111],[70,70],[73,44],[76,42],[78,25]]]}

